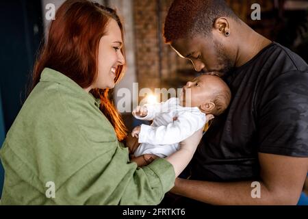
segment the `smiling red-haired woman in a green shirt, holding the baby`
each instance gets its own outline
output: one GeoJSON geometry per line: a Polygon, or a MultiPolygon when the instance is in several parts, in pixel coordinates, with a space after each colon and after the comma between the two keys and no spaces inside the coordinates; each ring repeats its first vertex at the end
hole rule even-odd
{"type": "Polygon", "coordinates": [[[123,76],[123,27],[114,10],[68,0],[57,10],[33,90],[1,149],[2,205],[153,205],[188,164],[201,131],[166,159],[138,168],[108,99],[123,76]]]}

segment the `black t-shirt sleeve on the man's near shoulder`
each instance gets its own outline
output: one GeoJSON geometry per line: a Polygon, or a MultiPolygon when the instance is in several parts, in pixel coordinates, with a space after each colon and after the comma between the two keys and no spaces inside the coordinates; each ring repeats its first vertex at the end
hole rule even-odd
{"type": "Polygon", "coordinates": [[[290,71],[270,81],[257,120],[260,153],[308,157],[308,73],[290,71]]]}

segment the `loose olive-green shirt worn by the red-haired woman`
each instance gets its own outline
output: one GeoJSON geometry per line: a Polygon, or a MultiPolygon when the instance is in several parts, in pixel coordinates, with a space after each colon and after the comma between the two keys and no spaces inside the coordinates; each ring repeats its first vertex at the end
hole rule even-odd
{"type": "Polygon", "coordinates": [[[156,205],[172,188],[166,159],[129,162],[100,101],[50,68],[29,95],[0,151],[1,205],[156,205]],[[55,198],[46,194],[55,185],[55,198]]]}

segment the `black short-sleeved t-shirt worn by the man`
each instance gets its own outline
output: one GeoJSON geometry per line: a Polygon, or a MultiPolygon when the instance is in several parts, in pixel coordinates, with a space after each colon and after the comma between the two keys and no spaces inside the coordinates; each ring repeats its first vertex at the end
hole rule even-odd
{"type": "Polygon", "coordinates": [[[308,66],[298,55],[273,42],[224,81],[231,103],[203,136],[191,179],[259,179],[258,153],[308,157],[308,66]]]}

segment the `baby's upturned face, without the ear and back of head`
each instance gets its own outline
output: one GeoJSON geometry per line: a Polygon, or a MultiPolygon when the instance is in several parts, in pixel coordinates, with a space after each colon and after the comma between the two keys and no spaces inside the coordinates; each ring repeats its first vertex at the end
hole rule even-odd
{"type": "Polygon", "coordinates": [[[211,101],[218,90],[221,80],[214,75],[201,75],[192,81],[188,81],[179,96],[180,105],[184,107],[199,107],[207,101],[211,101]]]}

